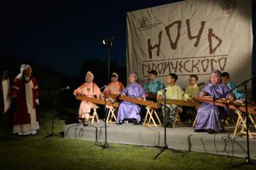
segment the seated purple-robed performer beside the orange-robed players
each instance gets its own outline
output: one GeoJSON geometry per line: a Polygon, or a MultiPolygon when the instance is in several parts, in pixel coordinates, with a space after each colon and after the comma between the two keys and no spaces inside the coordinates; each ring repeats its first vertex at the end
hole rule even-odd
{"type": "MultiPolygon", "coordinates": [[[[135,72],[130,73],[129,85],[127,85],[127,87],[121,92],[121,95],[145,100],[145,90],[137,81],[138,75],[135,72]]],[[[139,125],[141,120],[140,106],[127,101],[120,103],[118,108],[117,124],[123,124],[125,118],[134,118],[134,125],[139,125]]]]}

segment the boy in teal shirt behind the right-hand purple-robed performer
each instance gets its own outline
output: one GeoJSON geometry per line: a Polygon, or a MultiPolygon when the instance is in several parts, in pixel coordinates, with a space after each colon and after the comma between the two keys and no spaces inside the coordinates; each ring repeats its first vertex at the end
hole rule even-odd
{"type": "MultiPolygon", "coordinates": [[[[227,85],[230,90],[234,89],[236,85],[229,80],[230,80],[230,76],[227,72],[221,73],[221,82],[227,85]]],[[[239,92],[239,90],[237,89],[233,90],[232,94],[234,95],[234,97],[236,97],[236,99],[239,99],[239,100],[244,100],[245,98],[244,94],[242,92],[239,92]]]]}

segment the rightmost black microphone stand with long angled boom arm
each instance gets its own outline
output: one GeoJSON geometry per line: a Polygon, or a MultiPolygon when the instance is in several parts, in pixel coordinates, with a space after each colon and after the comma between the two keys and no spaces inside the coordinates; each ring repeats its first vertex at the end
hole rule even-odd
{"type": "Polygon", "coordinates": [[[243,165],[253,165],[255,163],[253,163],[252,158],[250,157],[250,143],[249,143],[249,125],[248,125],[248,96],[247,96],[247,83],[251,80],[256,79],[255,77],[249,78],[248,80],[243,81],[240,85],[237,85],[237,87],[234,87],[233,89],[229,90],[228,92],[226,92],[225,94],[221,95],[220,97],[218,97],[216,100],[220,99],[221,97],[226,96],[227,94],[229,94],[230,92],[232,92],[233,90],[237,89],[238,87],[243,86],[244,87],[244,93],[245,93],[245,116],[246,116],[246,146],[247,146],[247,157],[245,157],[246,162],[241,163],[241,164],[237,164],[237,165],[231,165],[231,167],[239,167],[239,166],[243,166],[243,165]]]}

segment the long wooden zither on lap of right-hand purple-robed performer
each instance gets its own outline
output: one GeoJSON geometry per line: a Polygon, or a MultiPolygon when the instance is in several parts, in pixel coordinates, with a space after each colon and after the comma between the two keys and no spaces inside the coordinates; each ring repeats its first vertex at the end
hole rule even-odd
{"type": "MultiPolygon", "coordinates": [[[[228,102],[227,99],[218,99],[218,100],[213,100],[212,96],[207,96],[207,97],[197,97],[196,101],[198,102],[204,102],[204,103],[211,103],[216,106],[222,106],[225,108],[229,108],[232,110],[240,110],[245,112],[246,111],[246,106],[245,106],[245,101],[242,103],[240,102],[228,102]]],[[[253,115],[256,115],[256,103],[248,103],[248,113],[252,113],[253,115]]]]}

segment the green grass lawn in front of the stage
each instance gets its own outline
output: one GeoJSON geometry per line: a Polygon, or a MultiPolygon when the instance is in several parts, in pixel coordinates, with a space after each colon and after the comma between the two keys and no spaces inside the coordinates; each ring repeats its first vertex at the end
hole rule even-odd
{"type": "MultiPolygon", "coordinates": [[[[42,124],[51,129],[51,114],[40,112],[42,124]]],[[[54,132],[63,132],[65,118],[56,118],[54,132]]],[[[10,129],[1,129],[3,133],[10,129]]],[[[157,160],[159,148],[117,145],[102,150],[97,143],[59,137],[46,138],[40,129],[35,136],[10,136],[0,141],[0,169],[227,169],[231,162],[244,159],[206,153],[164,151],[157,160]]],[[[232,168],[234,169],[234,168],[232,168]]],[[[256,169],[242,166],[237,169],[256,169]]]]}

